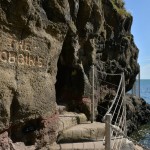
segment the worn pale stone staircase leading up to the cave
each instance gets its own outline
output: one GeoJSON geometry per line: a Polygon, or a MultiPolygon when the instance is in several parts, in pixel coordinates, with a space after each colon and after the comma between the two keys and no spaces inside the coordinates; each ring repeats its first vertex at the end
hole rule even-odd
{"type": "Polygon", "coordinates": [[[51,150],[103,150],[105,124],[87,121],[83,113],[68,112],[65,106],[58,106],[59,129],[57,144],[51,150]]]}

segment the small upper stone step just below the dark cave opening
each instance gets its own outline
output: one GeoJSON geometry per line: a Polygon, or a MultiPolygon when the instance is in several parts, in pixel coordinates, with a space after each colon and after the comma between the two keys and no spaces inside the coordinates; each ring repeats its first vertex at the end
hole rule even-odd
{"type": "Polygon", "coordinates": [[[83,113],[63,112],[59,115],[59,129],[58,132],[68,129],[77,124],[86,123],[87,117],[83,113]]]}

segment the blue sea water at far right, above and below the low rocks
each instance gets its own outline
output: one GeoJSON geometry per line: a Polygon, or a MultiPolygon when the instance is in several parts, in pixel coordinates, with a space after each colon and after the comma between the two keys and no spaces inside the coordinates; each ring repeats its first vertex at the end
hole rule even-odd
{"type": "MultiPolygon", "coordinates": [[[[138,85],[138,81],[136,81],[136,92],[138,85]]],[[[150,79],[140,80],[140,96],[150,104],[150,79]]],[[[150,123],[143,125],[137,132],[133,133],[132,138],[150,149],[150,123]]]]}

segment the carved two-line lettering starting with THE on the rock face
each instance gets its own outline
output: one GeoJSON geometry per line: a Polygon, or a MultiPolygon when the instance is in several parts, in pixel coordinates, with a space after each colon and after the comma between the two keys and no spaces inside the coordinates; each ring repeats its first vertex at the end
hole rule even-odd
{"type": "Polygon", "coordinates": [[[16,41],[8,38],[7,50],[0,49],[0,63],[26,67],[44,67],[44,59],[34,53],[38,51],[38,46],[32,45],[30,40],[16,41]],[[33,54],[32,54],[33,53],[33,54]]]}

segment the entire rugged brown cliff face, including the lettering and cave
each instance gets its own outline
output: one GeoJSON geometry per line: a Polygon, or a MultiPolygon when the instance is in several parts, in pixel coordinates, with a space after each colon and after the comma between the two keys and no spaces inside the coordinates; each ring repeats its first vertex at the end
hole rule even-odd
{"type": "MultiPolygon", "coordinates": [[[[1,0],[0,132],[26,145],[53,143],[56,105],[82,111],[92,64],[103,72],[124,72],[131,89],[139,71],[131,24],[121,1],[1,0]]],[[[95,90],[104,78],[119,82],[97,72],[95,90]]],[[[106,84],[101,91],[106,94],[97,102],[108,95],[106,84]]]]}

